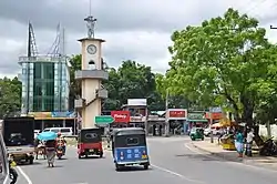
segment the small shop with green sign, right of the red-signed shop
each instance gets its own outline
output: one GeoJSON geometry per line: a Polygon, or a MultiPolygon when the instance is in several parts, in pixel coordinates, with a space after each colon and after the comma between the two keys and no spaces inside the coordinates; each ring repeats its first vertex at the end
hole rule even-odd
{"type": "Polygon", "coordinates": [[[189,112],[184,125],[185,133],[188,133],[192,127],[207,127],[208,120],[205,116],[205,112],[189,112]]]}

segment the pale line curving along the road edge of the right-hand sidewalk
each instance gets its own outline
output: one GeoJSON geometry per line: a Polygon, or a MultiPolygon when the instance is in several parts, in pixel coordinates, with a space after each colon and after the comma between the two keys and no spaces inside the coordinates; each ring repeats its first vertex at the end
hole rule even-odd
{"type": "MultiPolygon", "coordinates": [[[[191,152],[201,154],[201,155],[203,155],[205,157],[208,157],[208,159],[213,159],[213,160],[217,160],[217,161],[224,160],[223,157],[207,155],[207,154],[203,153],[202,151],[198,151],[197,149],[192,149],[188,144],[185,144],[185,147],[188,149],[191,152]]],[[[275,174],[277,173],[277,171],[275,171],[275,170],[269,170],[269,168],[265,168],[265,167],[261,167],[261,166],[249,165],[247,163],[239,163],[239,162],[232,162],[232,161],[228,162],[228,160],[225,160],[225,161],[227,161],[226,162],[227,164],[235,165],[235,166],[245,166],[245,167],[248,167],[248,168],[264,171],[266,173],[268,173],[268,172],[271,172],[271,173],[275,173],[275,174]]]]}

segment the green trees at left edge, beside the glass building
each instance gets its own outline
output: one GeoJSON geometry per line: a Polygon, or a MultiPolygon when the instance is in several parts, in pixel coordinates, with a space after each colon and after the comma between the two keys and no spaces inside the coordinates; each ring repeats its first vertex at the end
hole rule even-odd
{"type": "Polygon", "coordinates": [[[0,79],[0,119],[20,111],[21,82],[18,78],[0,79]]]}

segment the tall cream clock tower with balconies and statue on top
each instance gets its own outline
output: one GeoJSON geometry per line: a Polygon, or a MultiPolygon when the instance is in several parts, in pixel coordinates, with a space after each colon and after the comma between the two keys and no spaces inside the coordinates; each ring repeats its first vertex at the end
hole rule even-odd
{"type": "Polygon", "coordinates": [[[95,127],[95,116],[101,115],[102,100],[107,98],[107,91],[102,81],[109,79],[105,62],[102,58],[102,39],[94,38],[96,19],[89,16],[84,19],[88,37],[80,39],[82,47],[82,68],[75,72],[75,80],[81,81],[82,95],[75,100],[75,110],[82,116],[82,129],[95,127]]]}

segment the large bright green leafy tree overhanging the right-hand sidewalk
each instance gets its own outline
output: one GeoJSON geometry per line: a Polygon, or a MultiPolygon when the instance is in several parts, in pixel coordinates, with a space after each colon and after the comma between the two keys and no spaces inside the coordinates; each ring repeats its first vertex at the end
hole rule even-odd
{"type": "Polygon", "coordinates": [[[265,80],[276,48],[265,33],[256,19],[233,9],[199,27],[175,31],[165,83],[175,94],[206,106],[223,105],[252,125],[259,98],[270,93],[265,80]]]}

